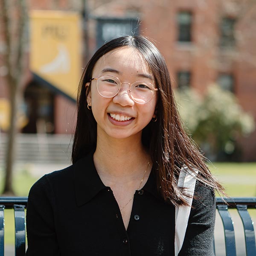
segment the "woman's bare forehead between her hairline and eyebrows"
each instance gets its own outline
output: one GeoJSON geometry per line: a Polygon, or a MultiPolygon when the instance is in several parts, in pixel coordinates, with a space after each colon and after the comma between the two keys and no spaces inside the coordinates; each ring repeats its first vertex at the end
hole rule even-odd
{"type": "Polygon", "coordinates": [[[118,70],[120,74],[151,74],[150,67],[140,52],[128,46],[114,49],[99,58],[93,68],[93,76],[99,76],[106,67],[118,70]]]}

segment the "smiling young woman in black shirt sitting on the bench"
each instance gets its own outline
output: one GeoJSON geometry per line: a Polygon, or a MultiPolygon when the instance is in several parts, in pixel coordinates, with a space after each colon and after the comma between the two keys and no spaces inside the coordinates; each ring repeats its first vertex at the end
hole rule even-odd
{"type": "Polygon", "coordinates": [[[113,39],[87,64],[72,160],[29,192],[27,256],[213,255],[222,187],[183,130],[163,56],[143,36],[113,39]],[[181,170],[196,179],[193,196],[178,186],[181,170]],[[189,219],[175,225],[179,207],[189,219]]]}

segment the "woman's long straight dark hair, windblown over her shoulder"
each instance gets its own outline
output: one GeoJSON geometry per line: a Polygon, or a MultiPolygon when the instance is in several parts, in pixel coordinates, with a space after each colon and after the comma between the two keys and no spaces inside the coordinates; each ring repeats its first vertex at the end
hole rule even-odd
{"type": "Polygon", "coordinates": [[[180,168],[183,164],[198,170],[198,180],[223,192],[223,187],[209,172],[203,155],[186,134],[177,112],[169,71],[157,47],[143,36],[115,38],[99,48],[88,62],[81,77],[78,93],[76,131],[74,134],[72,161],[76,163],[96,149],[96,121],[87,108],[85,84],[92,78],[93,67],[107,52],[119,47],[133,47],[143,56],[154,76],[158,88],[157,121],[150,122],[142,134],[142,142],[148,148],[156,172],[157,189],[167,202],[186,205],[184,190],[177,186],[180,168]]]}

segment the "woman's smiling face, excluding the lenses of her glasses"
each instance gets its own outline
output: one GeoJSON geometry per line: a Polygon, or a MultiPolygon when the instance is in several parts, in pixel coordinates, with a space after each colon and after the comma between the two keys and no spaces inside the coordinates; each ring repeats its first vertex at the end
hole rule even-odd
{"type": "Polygon", "coordinates": [[[99,78],[102,75],[118,77],[122,86],[116,96],[104,98],[97,91],[96,80],[91,81],[87,102],[92,106],[97,122],[97,136],[141,138],[143,128],[155,116],[157,93],[149,102],[139,104],[131,99],[128,90],[135,81],[154,85],[148,64],[136,49],[120,47],[106,53],[96,62],[92,77],[99,78]]]}

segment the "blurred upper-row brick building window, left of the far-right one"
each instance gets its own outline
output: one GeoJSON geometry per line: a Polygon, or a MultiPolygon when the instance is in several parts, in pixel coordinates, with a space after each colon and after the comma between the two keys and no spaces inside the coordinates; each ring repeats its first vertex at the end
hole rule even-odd
{"type": "Polygon", "coordinates": [[[191,12],[179,12],[177,16],[178,21],[178,41],[179,42],[191,42],[191,12]]]}

